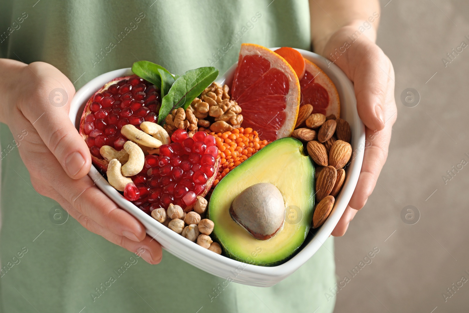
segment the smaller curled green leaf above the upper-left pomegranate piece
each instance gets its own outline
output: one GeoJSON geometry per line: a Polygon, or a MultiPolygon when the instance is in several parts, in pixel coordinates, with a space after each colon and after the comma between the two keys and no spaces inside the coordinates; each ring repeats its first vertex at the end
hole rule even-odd
{"type": "Polygon", "coordinates": [[[159,87],[161,97],[164,97],[174,84],[174,77],[167,69],[150,61],[135,62],[132,72],[159,87]]]}

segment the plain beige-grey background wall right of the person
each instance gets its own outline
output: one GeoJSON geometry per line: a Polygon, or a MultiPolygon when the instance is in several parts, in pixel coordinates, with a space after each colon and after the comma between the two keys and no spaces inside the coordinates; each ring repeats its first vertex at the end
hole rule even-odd
{"type": "Polygon", "coordinates": [[[379,252],[339,291],[335,312],[468,312],[469,282],[446,302],[442,293],[469,279],[469,164],[446,184],[442,176],[469,162],[469,47],[446,68],[441,59],[469,44],[469,3],[388,1],[378,44],[394,64],[398,119],[379,184],[335,241],[340,280],[379,252]],[[400,100],[410,87],[421,96],[412,108],[400,100]],[[401,220],[408,205],[421,215],[414,225],[401,220]]]}

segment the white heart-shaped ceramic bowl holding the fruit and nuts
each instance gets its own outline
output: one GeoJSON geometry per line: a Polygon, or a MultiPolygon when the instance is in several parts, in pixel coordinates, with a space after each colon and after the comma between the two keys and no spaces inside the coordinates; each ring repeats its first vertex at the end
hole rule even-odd
{"type": "MultiPolygon", "coordinates": [[[[275,48],[272,48],[272,50],[274,49],[275,48]]],[[[310,232],[299,252],[287,262],[274,267],[262,267],[218,255],[176,234],[171,229],[155,221],[150,215],[145,214],[138,207],[122,197],[93,165],[88,175],[93,179],[99,189],[118,206],[141,221],[148,235],[154,237],[166,251],[181,260],[212,275],[225,279],[229,278],[234,282],[246,285],[269,287],[280,282],[309,260],[333,231],[355,190],[362,167],[363,150],[365,146],[365,129],[358,116],[355,93],[350,80],[335,64],[328,65],[328,61],[324,57],[306,50],[298,49],[298,51],[300,51],[306,59],[314,62],[319,68],[324,70],[337,87],[340,97],[340,117],[350,123],[352,130],[351,145],[353,153],[351,162],[347,167],[347,175],[342,190],[340,191],[340,195],[335,199],[334,208],[328,219],[318,230],[310,232]]],[[[220,76],[217,82],[230,85],[235,68],[236,64],[223,76],[220,76]]],[[[92,79],[80,88],[72,99],[69,114],[70,120],[76,125],[76,128],[78,129],[80,125],[80,118],[86,102],[95,92],[112,79],[131,74],[132,71],[130,68],[116,69],[92,79]]]]}

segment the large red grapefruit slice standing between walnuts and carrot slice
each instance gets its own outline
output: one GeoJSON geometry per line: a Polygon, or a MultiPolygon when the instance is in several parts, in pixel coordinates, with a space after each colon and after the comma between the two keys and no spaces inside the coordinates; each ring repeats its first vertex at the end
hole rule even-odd
{"type": "Polygon", "coordinates": [[[231,97],[242,109],[242,127],[273,141],[295,128],[300,83],[295,70],[279,54],[263,46],[242,44],[231,97]]]}

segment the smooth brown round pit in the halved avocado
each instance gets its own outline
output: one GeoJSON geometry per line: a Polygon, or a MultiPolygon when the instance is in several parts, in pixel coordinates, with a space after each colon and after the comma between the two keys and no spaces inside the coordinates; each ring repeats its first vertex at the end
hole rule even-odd
{"type": "Polygon", "coordinates": [[[285,220],[285,203],[271,183],[257,183],[243,190],[230,207],[231,218],[257,239],[275,235],[285,220]]]}

